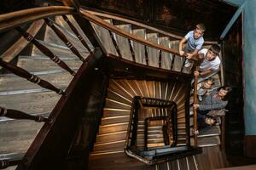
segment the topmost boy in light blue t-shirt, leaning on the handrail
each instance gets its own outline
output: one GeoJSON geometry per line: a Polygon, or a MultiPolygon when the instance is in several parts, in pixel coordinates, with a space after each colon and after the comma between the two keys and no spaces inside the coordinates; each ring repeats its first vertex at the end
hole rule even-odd
{"type": "MultiPolygon", "coordinates": [[[[190,59],[193,55],[197,54],[204,43],[204,32],[206,27],[203,24],[195,26],[195,30],[189,31],[185,37],[179,42],[178,50],[179,54],[188,54],[187,59],[190,59]]],[[[186,67],[189,67],[190,62],[186,62],[186,67]]]]}

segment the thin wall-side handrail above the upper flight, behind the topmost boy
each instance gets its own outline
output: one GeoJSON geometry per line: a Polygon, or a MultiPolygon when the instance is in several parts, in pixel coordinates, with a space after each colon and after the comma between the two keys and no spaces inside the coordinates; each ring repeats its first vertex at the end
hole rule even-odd
{"type": "MultiPolygon", "coordinates": [[[[119,20],[119,21],[122,21],[122,22],[125,22],[125,23],[128,23],[128,24],[131,24],[131,25],[134,25],[134,26],[139,26],[139,27],[143,27],[145,29],[148,29],[150,31],[155,31],[157,33],[160,33],[166,37],[172,37],[174,39],[177,39],[177,40],[181,40],[183,37],[182,36],[177,36],[175,34],[172,34],[170,32],[166,32],[166,31],[162,31],[160,29],[157,29],[157,28],[154,28],[152,26],[148,26],[148,25],[145,25],[145,24],[142,24],[142,23],[139,23],[137,21],[134,21],[134,20],[128,20],[128,19],[125,19],[125,18],[122,18],[122,17],[119,17],[119,16],[116,16],[116,15],[113,15],[113,14],[105,14],[103,12],[96,12],[96,11],[91,11],[89,9],[83,9],[84,11],[90,13],[90,14],[95,14],[97,16],[102,16],[102,17],[105,17],[105,18],[108,18],[108,19],[112,19],[112,20],[119,20]]],[[[205,41],[204,44],[207,44],[207,45],[210,45],[210,44],[217,44],[218,42],[212,42],[212,41],[205,41]]]]}

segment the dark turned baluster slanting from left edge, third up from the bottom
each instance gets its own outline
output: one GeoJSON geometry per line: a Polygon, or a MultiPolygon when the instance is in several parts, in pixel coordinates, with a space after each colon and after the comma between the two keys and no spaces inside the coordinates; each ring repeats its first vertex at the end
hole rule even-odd
{"type": "Polygon", "coordinates": [[[34,82],[37,83],[39,86],[43,87],[43,88],[47,88],[49,90],[55,91],[57,94],[65,94],[63,92],[63,90],[59,89],[59,88],[55,88],[55,86],[53,86],[51,83],[46,82],[45,80],[40,79],[39,77],[29,73],[28,71],[15,66],[15,65],[10,65],[9,63],[3,61],[3,59],[0,59],[0,65],[13,72],[15,75],[19,76],[19,77],[23,77],[26,78],[28,81],[30,82],[34,82]]]}

